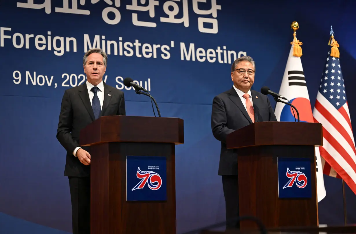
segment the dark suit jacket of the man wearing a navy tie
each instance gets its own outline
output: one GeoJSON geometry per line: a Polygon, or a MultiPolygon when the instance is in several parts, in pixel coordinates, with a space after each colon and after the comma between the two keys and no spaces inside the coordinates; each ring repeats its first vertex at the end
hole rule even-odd
{"type": "MultiPolygon", "coordinates": [[[[104,103],[100,116],[126,115],[124,92],[104,83],[104,103]],[[109,96],[110,94],[110,96],[109,96]]],[[[82,128],[95,120],[91,107],[87,83],[64,92],[59,115],[57,139],[67,150],[65,176],[84,177],[90,175],[90,165],[82,164],[73,155],[79,147],[79,133],[82,128]]],[[[90,154],[90,147],[82,147],[90,154]]]]}

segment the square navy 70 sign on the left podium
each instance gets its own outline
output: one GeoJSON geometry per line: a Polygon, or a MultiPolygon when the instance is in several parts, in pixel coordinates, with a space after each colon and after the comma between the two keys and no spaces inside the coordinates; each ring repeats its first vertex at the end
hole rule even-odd
{"type": "Polygon", "coordinates": [[[126,156],[126,200],[167,200],[167,159],[159,156],[126,156]]]}

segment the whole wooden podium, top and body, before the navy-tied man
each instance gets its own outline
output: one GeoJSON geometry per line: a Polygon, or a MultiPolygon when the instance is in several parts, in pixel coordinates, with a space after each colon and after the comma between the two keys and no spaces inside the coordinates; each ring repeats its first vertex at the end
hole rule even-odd
{"type": "Polygon", "coordinates": [[[175,145],[183,143],[179,118],[103,116],[82,129],[80,145],[90,146],[91,155],[91,234],[175,234],[175,145]],[[128,155],[166,159],[166,200],[126,200],[128,155]]]}

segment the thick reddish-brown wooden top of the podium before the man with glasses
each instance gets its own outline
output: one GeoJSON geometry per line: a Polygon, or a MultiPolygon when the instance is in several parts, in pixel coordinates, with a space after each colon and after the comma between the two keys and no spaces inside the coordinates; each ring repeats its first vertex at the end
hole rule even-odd
{"type": "Polygon", "coordinates": [[[307,122],[255,122],[226,137],[228,149],[258,145],[323,146],[323,126],[307,122]]]}

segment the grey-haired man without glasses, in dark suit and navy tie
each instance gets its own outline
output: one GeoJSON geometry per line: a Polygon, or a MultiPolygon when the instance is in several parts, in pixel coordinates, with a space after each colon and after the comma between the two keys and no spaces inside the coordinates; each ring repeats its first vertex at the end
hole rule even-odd
{"type": "Polygon", "coordinates": [[[108,55],[99,48],[83,58],[87,81],[64,92],[57,139],[67,150],[64,176],[72,201],[73,234],[90,234],[90,147],[79,147],[82,128],[100,116],[125,115],[124,92],[104,83],[108,55]]]}

